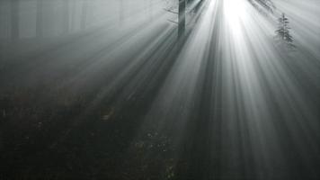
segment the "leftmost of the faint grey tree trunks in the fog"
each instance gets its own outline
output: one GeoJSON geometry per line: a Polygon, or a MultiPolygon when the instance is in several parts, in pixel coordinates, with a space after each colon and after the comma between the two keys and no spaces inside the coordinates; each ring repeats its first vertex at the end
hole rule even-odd
{"type": "Polygon", "coordinates": [[[19,0],[11,0],[11,38],[19,38],[19,0]]]}

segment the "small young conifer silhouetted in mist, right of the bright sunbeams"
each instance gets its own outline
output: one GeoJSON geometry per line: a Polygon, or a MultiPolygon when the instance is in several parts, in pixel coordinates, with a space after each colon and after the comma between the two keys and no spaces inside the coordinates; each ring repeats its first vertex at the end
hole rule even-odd
{"type": "Polygon", "coordinates": [[[293,43],[293,37],[290,34],[289,19],[285,14],[281,14],[278,19],[278,30],[276,32],[276,39],[280,41],[281,44],[285,44],[289,49],[295,48],[293,43]]]}

